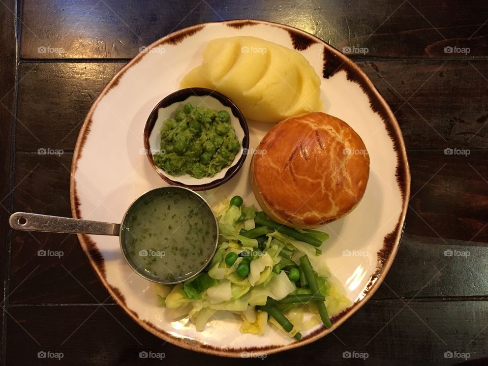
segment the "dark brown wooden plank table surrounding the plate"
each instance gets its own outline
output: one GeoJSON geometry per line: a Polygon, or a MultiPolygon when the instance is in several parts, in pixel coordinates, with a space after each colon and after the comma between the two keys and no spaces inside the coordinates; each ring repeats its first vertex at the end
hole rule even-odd
{"type": "Polygon", "coordinates": [[[289,24],[349,48],[395,112],[412,174],[400,250],[378,292],[334,335],[264,361],[451,365],[467,358],[466,364],[488,364],[485,0],[1,0],[3,364],[251,362],[161,341],[114,304],[76,236],[7,225],[14,211],[70,216],[70,164],[83,118],[140,47],[185,26],[237,18],[289,24]],[[454,148],[460,150],[446,150],[454,148]],[[64,255],[40,257],[43,248],[64,255]],[[63,358],[38,358],[42,351],[63,358]],[[165,358],[141,359],[141,351],[165,358]]]}

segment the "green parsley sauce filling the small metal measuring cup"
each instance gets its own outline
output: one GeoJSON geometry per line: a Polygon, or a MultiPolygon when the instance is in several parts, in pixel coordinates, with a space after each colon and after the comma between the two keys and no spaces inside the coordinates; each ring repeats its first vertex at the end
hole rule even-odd
{"type": "Polygon", "coordinates": [[[127,215],[121,230],[124,254],[155,281],[189,278],[214,253],[215,217],[190,192],[156,190],[136,201],[127,215]]]}

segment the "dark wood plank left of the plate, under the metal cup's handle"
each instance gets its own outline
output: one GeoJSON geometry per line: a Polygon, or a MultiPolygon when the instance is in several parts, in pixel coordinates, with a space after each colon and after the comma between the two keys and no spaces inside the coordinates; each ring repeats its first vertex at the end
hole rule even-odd
{"type": "MultiPolygon", "coordinates": [[[[14,211],[71,217],[72,154],[16,156],[14,211]]],[[[76,235],[13,231],[10,303],[113,302],[76,235]],[[39,256],[50,250],[58,256],[39,256]]]]}

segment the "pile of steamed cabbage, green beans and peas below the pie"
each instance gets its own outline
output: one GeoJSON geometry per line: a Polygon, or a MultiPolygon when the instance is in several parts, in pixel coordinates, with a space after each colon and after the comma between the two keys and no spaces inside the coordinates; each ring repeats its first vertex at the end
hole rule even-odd
{"type": "Polygon", "coordinates": [[[300,339],[300,331],[321,320],[330,326],[328,314],[350,301],[316,255],[317,246],[310,245],[321,245],[327,234],[288,228],[293,232],[288,235],[281,230],[285,227],[265,217],[263,221],[254,206],[238,198],[214,208],[220,237],[208,266],[185,283],[156,285],[158,304],[168,308],[171,319],[190,319],[198,331],[217,311],[239,314],[243,333],[264,334],[272,323],[300,339]]]}

